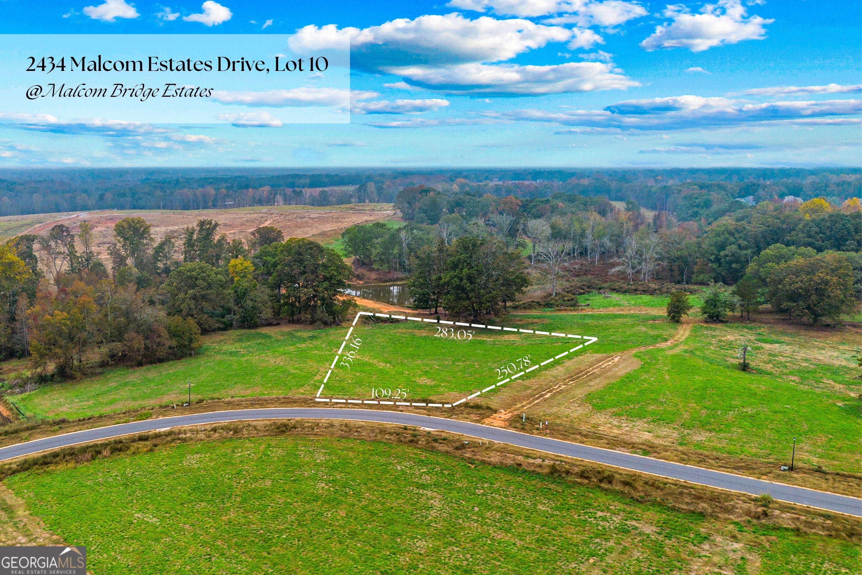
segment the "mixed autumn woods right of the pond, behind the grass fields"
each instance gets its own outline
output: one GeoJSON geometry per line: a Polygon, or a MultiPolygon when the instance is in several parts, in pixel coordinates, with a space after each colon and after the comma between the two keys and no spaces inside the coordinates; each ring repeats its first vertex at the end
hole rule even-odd
{"type": "Polygon", "coordinates": [[[426,309],[462,309],[444,297],[457,293],[446,272],[450,259],[461,261],[453,256],[462,238],[493,238],[502,250],[524,253],[530,275],[547,278],[552,298],[588,269],[629,284],[710,284],[704,315],[715,319],[770,304],[789,318],[834,323],[862,300],[859,198],[735,203],[740,209],[712,224],[680,223],[663,212],[647,218],[633,200],[620,206],[555,194],[522,201],[415,186],[397,198],[408,226],[353,226],[343,239],[354,265],[412,275],[415,304],[426,309]]]}

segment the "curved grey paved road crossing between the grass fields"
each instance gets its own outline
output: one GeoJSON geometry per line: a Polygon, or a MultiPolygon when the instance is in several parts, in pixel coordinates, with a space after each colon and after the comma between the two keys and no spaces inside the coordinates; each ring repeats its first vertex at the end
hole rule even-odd
{"type": "Polygon", "coordinates": [[[782,485],[740,477],[731,473],[721,473],[690,467],[669,461],[659,461],[640,455],[626,454],[609,449],[591,448],[578,443],[563,442],[550,437],[530,436],[512,430],[503,430],[488,425],[471,424],[455,419],[428,417],[402,411],[372,411],[346,408],[272,408],[250,409],[236,411],[212,411],[195,413],[177,417],[162,417],[148,419],[131,424],[110,425],[94,430],[76,431],[62,436],[46,437],[31,442],[10,445],[0,448],[0,461],[74,445],[82,442],[92,442],[109,437],[124,436],[146,431],[165,430],[184,425],[217,424],[229,421],[247,421],[252,419],[348,419],[351,421],[369,421],[384,424],[415,425],[435,430],[446,430],[454,433],[486,439],[494,442],[509,443],[522,448],[538,449],[550,454],[577,457],[588,461],[597,461],[616,467],[632,469],[644,473],[653,473],[672,479],[683,479],[691,483],[709,485],[734,492],[759,495],[769,493],[772,498],[791,503],[810,505],[824,510],[837,511],[854,516],[862,516],[862,499],[850,498],[834,493],[816,492],[802,487],[782,485]]]}

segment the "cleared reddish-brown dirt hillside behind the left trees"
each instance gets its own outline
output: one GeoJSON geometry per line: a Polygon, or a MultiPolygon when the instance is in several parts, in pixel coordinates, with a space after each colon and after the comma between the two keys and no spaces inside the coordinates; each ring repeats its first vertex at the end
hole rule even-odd
{"type": "Polygon", "coordinates": [[[89,222],[96,239],[95,251],[107,261],[108,245],[114,240],[114,225],[123,218],[140,217],[153,226],[156,241],[168,233],[180,234],[186,226],[194,226],[198,219],[215,219],[219,233],[228,239],[248,239],[259,226],[275,226],[285,238],[313,238],[327,241],[349,226],[391,217],[395,211],[391,204],[353,204],[348,206],[310,207],[242,207],[232,210],[104,210],[99,212],[37,213],[25,216],[0,218],[0,237],[22,233],[43,234],[52,226],[66,224],[78,231],[78,224],[89,222]]]}

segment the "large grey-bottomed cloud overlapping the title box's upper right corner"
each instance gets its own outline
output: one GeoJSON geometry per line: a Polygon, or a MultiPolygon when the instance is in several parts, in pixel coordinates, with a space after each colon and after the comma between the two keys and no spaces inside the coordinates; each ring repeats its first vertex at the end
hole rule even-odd
{"type": "Polygon", "coordinates": [[[565,42],[572,32],[558,26],[543,26],[528,20],[496,20],[482,16],[470,20],[460,14],[422,15],[401,18],[370,28],[322,28],[306,26],[290,37],[295,53],[343,49],[350,40],[351,63],[379,71],[397,65],[463,64],[499,62],[518,54],[565,42]]]}

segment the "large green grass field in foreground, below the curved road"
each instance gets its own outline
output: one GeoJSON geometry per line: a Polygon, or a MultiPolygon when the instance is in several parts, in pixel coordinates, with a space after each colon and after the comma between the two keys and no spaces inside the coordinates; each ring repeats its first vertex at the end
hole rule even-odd
{"type": "Polygon", "coordinates": [[[707,520],[515,467],[379,442],[180,444],[4,483],[47,529],[87,546],[97,575],[860,567],[853,541],[707,520]]]}

